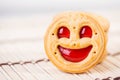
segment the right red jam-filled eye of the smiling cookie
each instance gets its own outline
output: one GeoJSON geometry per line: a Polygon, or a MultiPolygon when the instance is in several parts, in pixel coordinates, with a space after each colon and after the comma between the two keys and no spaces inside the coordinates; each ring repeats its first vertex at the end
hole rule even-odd
{"type": "Polygon", "coordinates": [[[92,37],[92,29],[89,26],[83,26],[82,29],[80,30],[80,38],[83,37],[92,37]]]}

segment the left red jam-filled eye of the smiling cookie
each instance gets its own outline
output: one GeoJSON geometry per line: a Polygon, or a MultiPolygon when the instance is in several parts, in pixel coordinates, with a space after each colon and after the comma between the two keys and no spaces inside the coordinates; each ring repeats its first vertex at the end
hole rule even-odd
{"type": "Polygon", "coordinates": [[[70,31],[67,27],[65,26],[62,26],[58,29],[58,32],[57,32],[57,36],[58,38],[69,38],[70,37],[70,31]]]}

